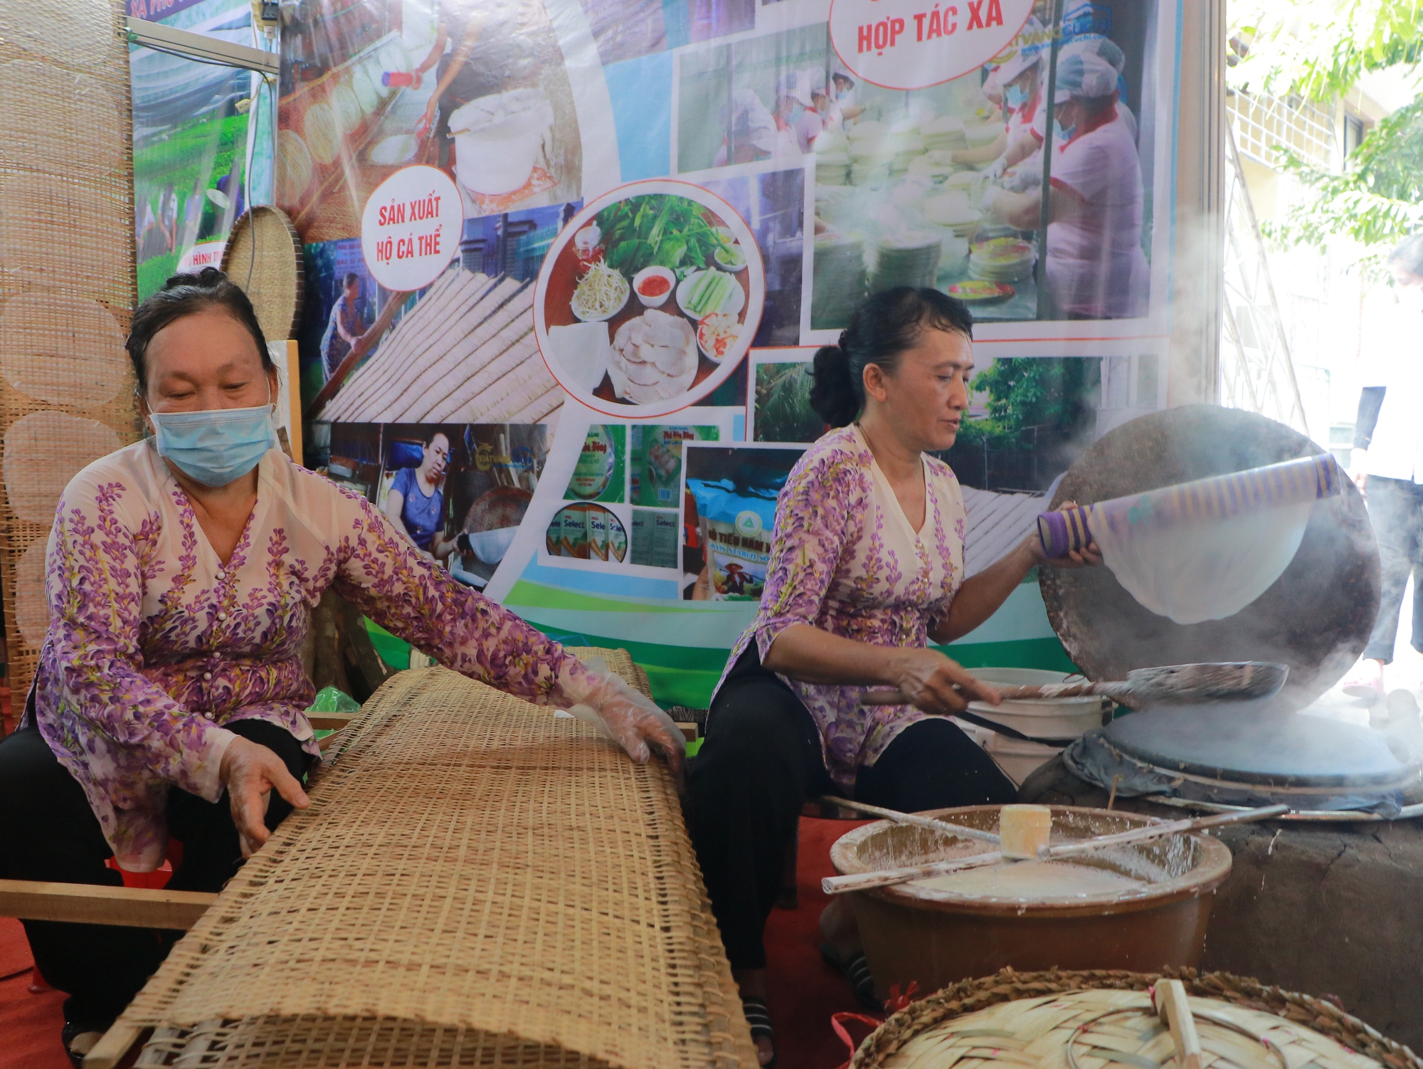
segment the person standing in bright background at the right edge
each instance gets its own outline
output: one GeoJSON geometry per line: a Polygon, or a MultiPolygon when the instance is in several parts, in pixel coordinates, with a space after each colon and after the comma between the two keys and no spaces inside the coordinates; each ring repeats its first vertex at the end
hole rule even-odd
{"type": "MultiPolygon", "coordinates": [[[[1389,253],[1397,305],[1379,317],[1368,339],[1369,366],[1363,376],[1353,430],[1350,475],[1368,498],[1369,520],[1379,539],[1382,591],[1379,615],[1363,656],[1343,680],[1353,697],[1385,696],[1383,666],[1393,660],[1399,614],[1409,576],[1413,584],[1410,643],[1423,652],[1423,233],[1400,242],[1389,253]]],[[[1409,680],[1417,685],[1423,679],[1409,680]]]]}

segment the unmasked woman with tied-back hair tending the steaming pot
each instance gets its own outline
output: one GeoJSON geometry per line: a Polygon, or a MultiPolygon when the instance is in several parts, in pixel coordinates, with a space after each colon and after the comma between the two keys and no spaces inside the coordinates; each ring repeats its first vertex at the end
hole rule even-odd
{"type": "MultiPolygon", "coordinates": [[[[795,464],[756,621],[731,651],[689,773],[689,826],[761,1063],[774,1059],[761,932],[801,804],[840,793],[901,811],[1003,803],[1013,784],[946,715],[992,688],[929,649],[986,621],[1039,562],[1036,535],[963,578],[963,495],[946,450],[968,407],[972,316],[932,289],[871,297],[815,354],[835,427],[795,464]],[[912,706],[861,707],[868,686],[912,706]]],[[[1060,565],[1096,562],[1086,557],[1060,565]]],[[[872,982],[842,907],[825,954],[872,982]]]]}

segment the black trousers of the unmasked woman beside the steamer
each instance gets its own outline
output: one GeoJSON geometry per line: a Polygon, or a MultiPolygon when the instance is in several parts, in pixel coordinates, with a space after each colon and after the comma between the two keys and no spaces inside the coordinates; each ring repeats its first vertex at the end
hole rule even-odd
{"type": "MultiPolygon", "coordinates": [[[[838,794],[810,712],[753,643],[712,702],[687,769],[692,833],[733,969],[766,967],[763,932],[781,888],[801,806],[838,794]]],[[[943,717],[919,720],[855,779],[857,801],[902,813],[1009,803],[1017,797],[980,746],[943,717]]]]}

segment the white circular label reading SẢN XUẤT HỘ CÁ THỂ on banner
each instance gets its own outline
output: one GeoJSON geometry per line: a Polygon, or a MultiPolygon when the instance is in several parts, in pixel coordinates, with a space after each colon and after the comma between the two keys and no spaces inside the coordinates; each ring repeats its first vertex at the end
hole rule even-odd
{"type": "Polygon", "coordinates": [[[444,171],[403,167],[366,201],[360,248],[366,266],[386,289],[428,286],[460,252],[464,206],[444,171]]]}

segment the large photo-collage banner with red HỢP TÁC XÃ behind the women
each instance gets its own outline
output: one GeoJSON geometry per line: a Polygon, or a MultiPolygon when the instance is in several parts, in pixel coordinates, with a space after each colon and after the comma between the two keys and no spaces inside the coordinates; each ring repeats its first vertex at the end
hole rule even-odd
{"type": "MultiPolygon", "coordinates": [[[[969,574],[1164,404],[1175,0],[293,11],[307,463],[665,705],[756,614],[807,362],[867,295],[975,310],[969,574]]],[[[1033,581],[951,655],[1070,668],[1033,581]]]]}

